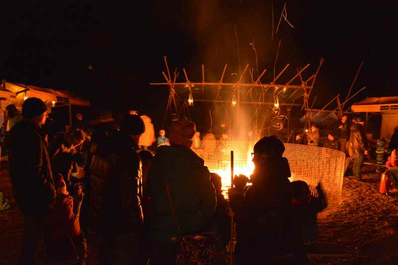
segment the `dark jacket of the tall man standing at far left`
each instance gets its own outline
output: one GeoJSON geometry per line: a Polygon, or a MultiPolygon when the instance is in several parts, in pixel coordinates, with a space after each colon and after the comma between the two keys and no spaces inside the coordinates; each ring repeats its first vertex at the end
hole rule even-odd
{"type": "Polygon", "coordinates": [[[9,174],[19,210],[27,215],[46,214],[54,206],[55,187],[39,124],[24,119],[10,131],[9,174]]]}

